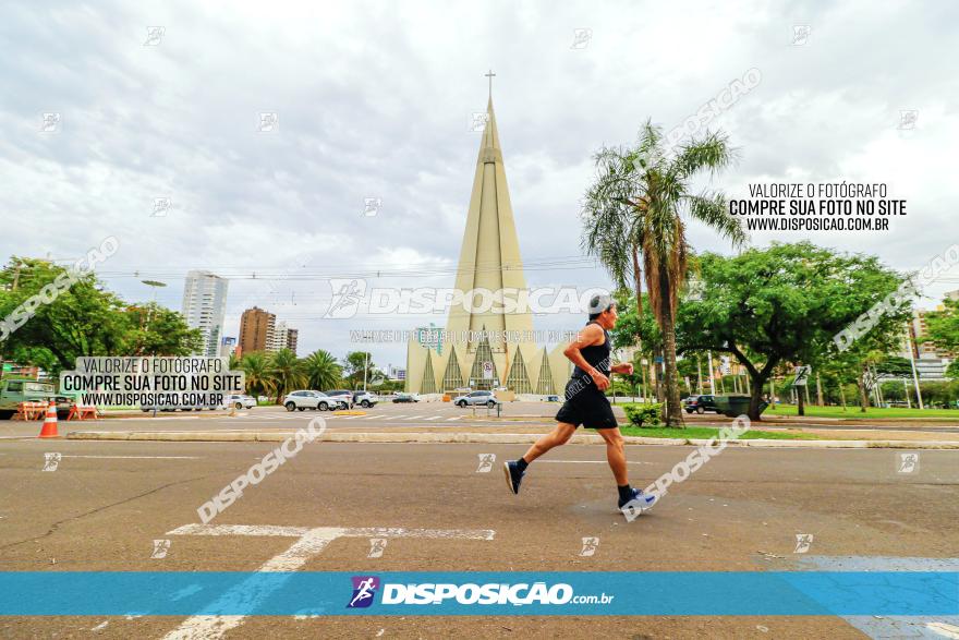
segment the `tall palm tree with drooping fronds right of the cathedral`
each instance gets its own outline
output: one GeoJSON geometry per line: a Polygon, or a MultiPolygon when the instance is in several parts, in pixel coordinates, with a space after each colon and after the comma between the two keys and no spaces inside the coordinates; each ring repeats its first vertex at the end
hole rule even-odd
{"type": "Polygon", "coordinates": [[[661,130],[647,120],[634,148],[604,147],[595,160],[597,176],[583,206],[583,245],[599,258],[618,285],[632,280],[638,306],[642,304],[642,273],[663,333],[666,421],[681,426],[675,323],[678,292],[685,283],[690,255],[684,219],[704,222],[735,246],[746,240],[739,221],[727,210],[726,196],[720,192],[691,194],[690,182],[703,170],[708,169],[712,176],[726,168],[733,160],[733,152],[725,135],[707,133],[669,155],[661,130]]]}

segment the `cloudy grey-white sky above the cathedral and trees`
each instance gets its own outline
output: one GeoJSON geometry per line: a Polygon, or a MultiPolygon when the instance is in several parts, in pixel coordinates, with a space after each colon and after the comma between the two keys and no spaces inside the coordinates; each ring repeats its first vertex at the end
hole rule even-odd
{"type": "MultiPolygon", "coordinates": [[[[231,279],[227,335],[258,304],[300,328],[301,354],[342,355],[351,328],[444,324],[321,316],[330,277],[453,285],[487,69],[530,265],[581,255],[598,147],[630,143],[646,118],[669,130],[755,69],[760,84],[709,122],[740,157],[713,186],[886,183],[908,215],[883,233],[752,243],[810,238],[914,269],[959,241],[957,32],[945,1],[8,3],[0,257],[66,259],[114,236],[100,273],[124,298],[149,299],[141,280],[159,279],[179,309],[185,273],[210,269],[231,279]],[[275,131],[259,131],[264,112],[275,131]],[[59,114],[54,131],[44,113],[59,114]],[[368,197],[376,216],[362,215],[368,197]]],[[[696,225],[690,236],[729,251],[696,225]]],[[[959,288],[959,267],[947,276],[928,292],[959,288]]],[[[609,285],[587,261],[527,281],[609,285]]],[[[405,358],[402,345],[373,352],[380,366],[405,358]]]]}

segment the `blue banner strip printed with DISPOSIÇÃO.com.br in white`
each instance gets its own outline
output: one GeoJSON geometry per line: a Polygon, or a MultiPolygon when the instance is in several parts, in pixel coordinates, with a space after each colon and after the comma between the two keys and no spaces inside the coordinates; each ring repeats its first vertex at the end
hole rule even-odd
{"type": "Polygon", "coordinates": [[[0,572],[0,615],[959,615],[955,571],[0,572]]]}

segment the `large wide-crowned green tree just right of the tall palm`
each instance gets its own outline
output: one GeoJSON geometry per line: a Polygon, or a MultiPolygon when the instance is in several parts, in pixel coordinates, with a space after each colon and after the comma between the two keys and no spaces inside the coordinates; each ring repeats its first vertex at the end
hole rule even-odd
{"type": "Polygon", "coordinates": [[[680,350],[735,355],[752,383],[752,420],[760,420],[765,385],[777,366],[816,367],[831,358],[862,372],[873,352],[895,343],[910,313],[903,301],[840,354],[835,336],[902,281],[878,258],[800,242],[735,257],[704,254],[700,262],[703,298],[680,309],[680,350]]]}

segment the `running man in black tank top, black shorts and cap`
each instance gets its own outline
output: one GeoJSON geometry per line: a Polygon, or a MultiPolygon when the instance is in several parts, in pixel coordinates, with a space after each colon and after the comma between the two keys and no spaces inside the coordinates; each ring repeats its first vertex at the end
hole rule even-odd
{"type": "Polygon", "coordinates": [[[656,502],[654,496],[629,484],[622,434],[604,393],[609,388],[610,373],[630,375],[633,372],[633,365],[628,362],[610,366],[612,343],[609,329],[616,326],[617,317],[616,301],[609,295],[594,295],[590,301],[590,322],[563,351],[575,369],[566,385],[566,403],[556,414],[559,424],[551,433],[536,440],[522,458],[503,463],[507,485],[514,494],[520,493],[526,467],[549,449],[569,442],[582,424],[596,430],[606,440],[606,459],[619,490],[619,508],[636,500],[634,505],[646,509],[656,502]]]}

